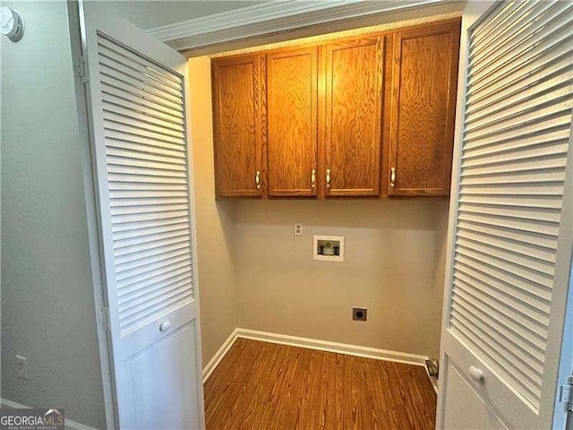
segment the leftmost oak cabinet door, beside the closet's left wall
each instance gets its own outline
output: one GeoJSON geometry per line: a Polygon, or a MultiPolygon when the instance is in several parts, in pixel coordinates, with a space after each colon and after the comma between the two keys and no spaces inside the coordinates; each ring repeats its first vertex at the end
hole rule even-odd
{"type": "Polygon", "coordinates": [[[264,57],[214,60],[211,69],[216,194],[261,196],[264,57]]]}

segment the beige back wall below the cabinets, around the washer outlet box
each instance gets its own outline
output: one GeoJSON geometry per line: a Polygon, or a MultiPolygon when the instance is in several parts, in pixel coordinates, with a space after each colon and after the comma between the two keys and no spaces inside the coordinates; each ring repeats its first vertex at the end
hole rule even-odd
{"type": "Polygon", "coordinates": [[[238,326],[438,357],[447,217],[444,200],[238,202],[238,326]],[[344,236],[345,261],[314,261],[312,235],[344,236]]]}

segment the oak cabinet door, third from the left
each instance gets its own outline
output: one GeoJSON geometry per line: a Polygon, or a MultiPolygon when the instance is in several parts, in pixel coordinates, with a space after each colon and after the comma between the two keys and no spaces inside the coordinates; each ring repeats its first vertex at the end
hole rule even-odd
{"type": "Polygon", "coordinates": [[[382,39],[324,47],[326,196],[380,194],[382,39]]]}

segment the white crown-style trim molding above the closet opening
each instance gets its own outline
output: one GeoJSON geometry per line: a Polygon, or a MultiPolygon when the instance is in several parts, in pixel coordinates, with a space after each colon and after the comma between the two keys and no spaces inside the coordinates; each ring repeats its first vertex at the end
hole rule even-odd
{"type": "Polygon", "coordinates": [[[269,1],[163,25],[148,32],[170,47],[184,51],[328,22],[445,3],[448,2],[446,0],[269,1]]]}

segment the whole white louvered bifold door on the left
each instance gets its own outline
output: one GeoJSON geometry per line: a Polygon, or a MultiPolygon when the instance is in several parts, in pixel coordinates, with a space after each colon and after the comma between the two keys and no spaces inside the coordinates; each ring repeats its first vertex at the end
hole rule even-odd
{"type": "Polygon", "coordinates": [[[95,3],[85,49],[119,424],[199,428],[186,60],[95,3]]]}

